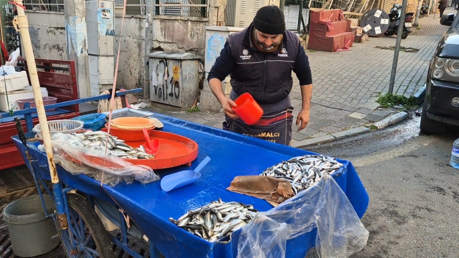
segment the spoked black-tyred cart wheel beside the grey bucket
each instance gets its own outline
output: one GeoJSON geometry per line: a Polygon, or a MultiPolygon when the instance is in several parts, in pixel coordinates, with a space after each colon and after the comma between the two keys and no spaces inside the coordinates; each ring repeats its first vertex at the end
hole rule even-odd
{"type": "Polygon", "coordinates": [[[101,220],[83,196],[67,194],[67,230],[59,230],[67,258],[113,258],[112,243],[101,220]]]}

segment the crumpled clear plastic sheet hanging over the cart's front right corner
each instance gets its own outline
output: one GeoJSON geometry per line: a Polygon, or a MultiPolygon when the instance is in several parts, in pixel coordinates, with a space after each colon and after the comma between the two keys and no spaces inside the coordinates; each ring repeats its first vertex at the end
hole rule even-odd
{"type": "Polygon", "coordinates": [[[241,229],[237,258],[283,258],[287,239],[316,227],[321,258],[347,258],[368,241],[368,230],[328,174],[277,207],[258,213],[241,229]]]}

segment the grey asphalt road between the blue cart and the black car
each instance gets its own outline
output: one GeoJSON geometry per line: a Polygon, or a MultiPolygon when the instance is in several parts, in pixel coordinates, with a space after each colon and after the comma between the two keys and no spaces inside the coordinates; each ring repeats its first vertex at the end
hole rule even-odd
{"type": "MultiPolygon", "coordinates": [[[[310,148],[334,157],[348,156],[369,194],[362,218],[369,240],[351,258],[459,257],[459,170],[449,165],[459,130],[419,135],[416,121],[406,122],[413,123],[410,136],[387,133],[397,130],[395,126],[386,133],[381,130],[310,148]]],[[[308,255],[312,257],[317,257],[314,250],[308,255]]]]}

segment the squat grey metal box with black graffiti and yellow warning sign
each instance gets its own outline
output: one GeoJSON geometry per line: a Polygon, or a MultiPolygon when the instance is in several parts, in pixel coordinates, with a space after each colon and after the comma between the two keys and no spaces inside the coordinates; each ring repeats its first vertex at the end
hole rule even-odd
{"type": "Polygon", "coordinates": [[[148,54],[150,100],[191,107],[199,92],[199,60],[192,53],[155,51],[148,54]]]}

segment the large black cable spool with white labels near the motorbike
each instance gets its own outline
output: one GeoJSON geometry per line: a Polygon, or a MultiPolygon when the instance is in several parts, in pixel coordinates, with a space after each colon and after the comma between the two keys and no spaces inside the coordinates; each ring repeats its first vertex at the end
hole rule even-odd
{"type": "Polygon", "coordinates": [[[360,17],[360,27],[369,36],[377,37],[389,28],[389,15],[381,9],[368,10],[360,17]]]}

